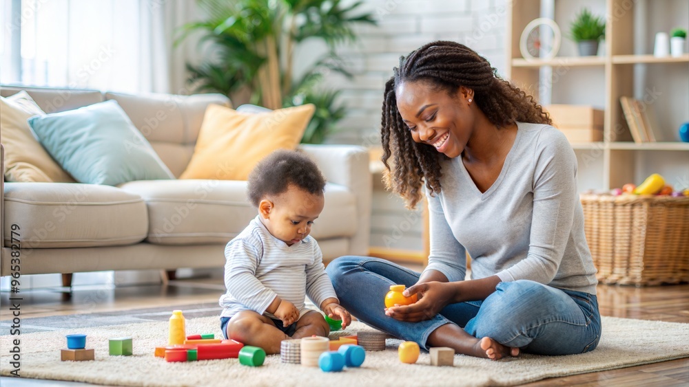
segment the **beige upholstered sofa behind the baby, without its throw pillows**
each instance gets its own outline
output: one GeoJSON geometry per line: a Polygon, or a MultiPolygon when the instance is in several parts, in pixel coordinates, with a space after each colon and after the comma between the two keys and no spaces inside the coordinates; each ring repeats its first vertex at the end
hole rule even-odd
{"type": "MultiPolygon", "coordinates": [[[[46,113],[116,100],[175,177],[192,157],[206,107],[230,104],[219,94],[133,96],[84,89],[0,87],[0,95],[7,97],[21,90],[46,113]]],[[[367,254],[371,217],[367,150],[349,145],[301,145],[299,149],[316,161],[327,179],[325,208],[311,232],[324,260],[367,254]]],[[[3,170],[8,151],[0,148],[3,170]]],[[[15,269],[25,275],[222,267],[225,245],[257,213],[247,201],[246,187],[246,181],[203,179],[105,186],[10,182],[3,176],[0,276],[15,269]],[[21,248],[20,259],[11,261],[17,247],[21,248]],[[12,267],[15,263],[19,267],[12,267]]],[[[69,280],[63,285],[70,285],[69,280]]]]}

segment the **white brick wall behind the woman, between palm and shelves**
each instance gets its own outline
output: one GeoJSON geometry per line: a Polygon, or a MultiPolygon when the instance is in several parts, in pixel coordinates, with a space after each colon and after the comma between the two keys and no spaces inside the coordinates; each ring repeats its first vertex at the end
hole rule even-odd
{"type": "MultiPolygon", "coordinates": [[[[362,9],[376,15],[378,26],[358,30],[359,41],[339,52],[353,79],[327,76],[327,87],[342,90],[347,118],[329,142],[380,145],[380,109],[384,83],[400,56],[435,40],[464,43],[488,59],[501,74],[505,68],[506,0],[364,0],[362,9]]],[[[323,47],[305,44],[296,52],[296,71],[322,53],[323,47]]],[[[380,175],[376,176],[380,179],[380,175]]],[[[385,192],[376,181],[373,192],[371,245],[421,250],[420,212],[404,209],[402,200],[385,192]]]]}

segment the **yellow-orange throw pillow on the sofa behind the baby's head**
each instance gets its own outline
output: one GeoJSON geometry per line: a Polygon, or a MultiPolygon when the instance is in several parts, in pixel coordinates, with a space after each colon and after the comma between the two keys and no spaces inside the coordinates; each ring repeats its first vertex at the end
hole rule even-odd
{"type": "Polygon", "coordinates": [[[297,147],[315,110],[313,104],[305,104],[267,113],[239,113],[211,104],[192,160],[179,178],[246,180],[263,157],[297,147]]]}

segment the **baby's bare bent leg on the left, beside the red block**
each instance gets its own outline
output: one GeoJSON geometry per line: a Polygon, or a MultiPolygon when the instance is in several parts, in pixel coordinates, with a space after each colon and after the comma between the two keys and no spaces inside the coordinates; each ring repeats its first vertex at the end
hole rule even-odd
{"type": "Polygon", "coordinates": [[[240,311],[227,323],[227,337],[244,345],[258,346],[265,353],[280,353],[280,342],[289,336],[280,331],[273,320],[255,311],[240,311]]]}

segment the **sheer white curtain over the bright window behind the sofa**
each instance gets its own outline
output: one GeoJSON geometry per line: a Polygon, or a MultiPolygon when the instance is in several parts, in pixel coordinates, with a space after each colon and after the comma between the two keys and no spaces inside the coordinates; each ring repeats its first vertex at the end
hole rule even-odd
{"type": "Polygon", "coordinates": [[[127,93],[184,86],[192,42],[178,49],[172,43],[176,28],[193,20],[194,1],[1,1],[0,82],[127,93]],[[21,54],[12,50],[17,33],[21,54]]]}

